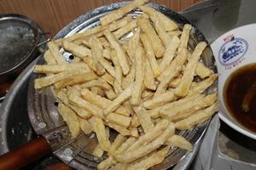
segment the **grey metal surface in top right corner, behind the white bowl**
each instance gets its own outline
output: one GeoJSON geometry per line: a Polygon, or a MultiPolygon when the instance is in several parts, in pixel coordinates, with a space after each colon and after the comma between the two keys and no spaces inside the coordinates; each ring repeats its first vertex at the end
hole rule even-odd
{"type": "Polygon", "coordinates": [[[211,0],[212,8],[198,8],[183,16],[197,26],[211,43],[238,26],[255,23],[256,2],[253,0],[211,0]]]}

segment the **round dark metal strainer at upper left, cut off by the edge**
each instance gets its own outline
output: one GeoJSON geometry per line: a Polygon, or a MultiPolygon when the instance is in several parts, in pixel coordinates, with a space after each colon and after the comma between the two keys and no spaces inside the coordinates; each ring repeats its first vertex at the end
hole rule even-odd
{"type": "Polygon", "coordinates": [[[38,26],[18,14],[0,15],[0,75],[26,62],[38,43],[38,26]]]}

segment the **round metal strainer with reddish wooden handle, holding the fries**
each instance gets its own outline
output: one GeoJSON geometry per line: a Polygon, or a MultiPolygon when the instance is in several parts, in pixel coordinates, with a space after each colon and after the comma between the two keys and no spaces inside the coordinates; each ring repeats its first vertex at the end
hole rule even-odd
{"type": "MultiPolygon", "coordinates": [[[[91,27],[97,26],[99,24],[99,18],[102,17],[102,15],[108,14],[113,9],[124,6],[125,4],[126,3],[113,3],[108,6],[96,8],[90,11],[88,14],[80,16],[77,20],[74,20],[71,24],[63,28],[55,36],[55,38],[68,37],[74,33],[85,31],[91,27]]],[[[168,8],[154,3],[149,3],[148,5],[156,8],[163,14],[166,14],[168,17],[172,18],[172,20],[175,20],[180,27],[183,27],[184,24],[189,23],[189,20],[186,20],[183,18],[183,16],[168,8]]],[[[139,13],[140,11],[135,10],[131,12],[131,15],[137,16],[139,13]]],[[[201,41],[206,41],[205,37],[201,34],[201,31],[193,26],[189,37],[189,47],[193,49],[195,48],[195,45],[201,41]]],[[[63,55],[68,60],[69,54],[64,52],[63,55]]],[[[216,66],[214,65],[215,60],[212,56],[212,50],[209,46],[204,50],[201,57],[207,66],[211,67],[215,72],[217,72],[216,66]]],[[[38,59],[38,64],[44,64],[44,59],[42,56],[38,59]]],[[[11,162],[8,164],[8,166],[17,164],[18,162],[14,162],[17,159],[14,159],[13,157],[19,156],[19,153],[22,155],[25,155],[26,152],[28,153],[26,156],[24,156],[26,159],[19,161],[18,166],[21,167],[40,156],[44,156],[45,154],[52,152],[56,157],[67,163],[70,167],[77,169],[96,169],[98,162],[102,161],[102,159],[104,159],[106,156],[97,158],[90,155],[91,150],[93,150],[94,146],[96,145],[94,135],[91,134],[86,136],[85,134],[81,133],[77,139],[72,139],[67,125],[63,122],[61,116],[59,116],[57,112],[55,97],[51,88],[44,88],[39,91],[36,91],[33,88],[34,79],[42,76],[43,75],[32,74],[27,94],[29,118],[32,123],[32,127],[40,137],[37,140],[26,144],[26,146],[28,145],[28,147],[32,148],[32,152],[28,152],[27,147],[22,147],[20,150],[15,150],[11,154],[1,156],[0,167],[2,167],[1,165],[3,165],[3,161],[11,162]]],[[[211,93],[215,87],[216,84],[208,88],[207,93],[211,93]]],[[[193,145],[196,145],[200,142],[203,133],[205,133],[207,125],[208,122],[201,123],[191,130],[179,132],[179,135],[182,135],[193,145]]],[[[113,137],[114,134],[111,133],[110,138],[113,139],[113,137]]],[[[165,161],[157,166],[154,166],[152,169],[166,169],[168,167],[172,167],[183,157],[185,157],[187,153],[188,152],[185,150],[172,148],[169,156],[166,156],[165,161]]],[[[19,159],[21,158],[23,158],[23,156],[19,159]]],[[[6,166],[5,169],[8,169],[8,166],[6,166]]],[[[18,166],[15,168],[18,168],[18,166]]]]}

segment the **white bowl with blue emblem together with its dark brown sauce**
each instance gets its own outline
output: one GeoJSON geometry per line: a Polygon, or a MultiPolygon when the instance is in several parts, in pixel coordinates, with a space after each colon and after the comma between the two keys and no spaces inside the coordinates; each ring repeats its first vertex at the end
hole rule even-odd
{"type": "Polygon", "coordinates": [[[218,67],[218,116],[256,139],[256,24],[241,26],[212,42],[218,67]]]}

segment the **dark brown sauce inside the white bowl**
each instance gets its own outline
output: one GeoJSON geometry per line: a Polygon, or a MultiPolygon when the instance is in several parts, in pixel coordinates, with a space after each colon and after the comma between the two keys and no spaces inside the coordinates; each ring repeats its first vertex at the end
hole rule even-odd
{"type": "Polygon", "coordinates": [[[224,102],[230,114],[244,127],[256,132],[256,64],[245,65],[233,72],[224,84],[224,102]],[[253,89],[253,91],[252,91],[253,89]],[[252,94],[249,109],[242,109],[247,94],[252,94]]]}

